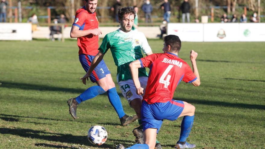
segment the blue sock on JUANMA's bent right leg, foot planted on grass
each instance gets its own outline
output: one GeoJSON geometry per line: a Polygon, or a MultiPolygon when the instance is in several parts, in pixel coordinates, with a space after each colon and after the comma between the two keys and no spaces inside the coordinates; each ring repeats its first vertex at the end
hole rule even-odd
{"type": "Polygon", "coordinates": [[[180,128],[179,142],[185,142],[186,139],[188,138],[189,133],[192,129],[193,120],[194,120],[194,115],[183,117],[180,128]]]}

